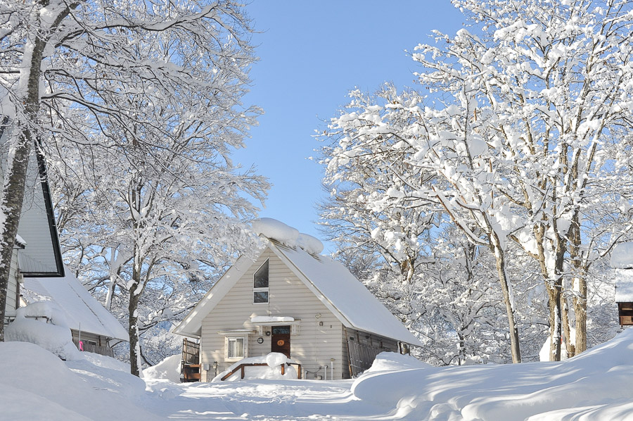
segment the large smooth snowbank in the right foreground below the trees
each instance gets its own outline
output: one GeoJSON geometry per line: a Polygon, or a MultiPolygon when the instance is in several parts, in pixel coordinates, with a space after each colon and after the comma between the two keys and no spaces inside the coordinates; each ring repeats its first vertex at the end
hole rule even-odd
{"type": "Polygon", "coordinates": [[[632,353],[627,329],[559,363],[368,370],[352,392],[407,420],[633,419],[632,353]]]}

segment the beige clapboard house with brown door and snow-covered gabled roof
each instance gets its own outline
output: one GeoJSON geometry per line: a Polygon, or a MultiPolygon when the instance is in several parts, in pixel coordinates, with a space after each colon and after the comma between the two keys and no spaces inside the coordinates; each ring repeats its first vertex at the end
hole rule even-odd
{"type": "Polygon", "coordinates": [[[381,351],[420,341],[323,244],[262,218],[255,260],[242,256],[174,329],[199,339],[201,379],[242,358],[284,353],[304,378],[350,378],[381,351]]]}

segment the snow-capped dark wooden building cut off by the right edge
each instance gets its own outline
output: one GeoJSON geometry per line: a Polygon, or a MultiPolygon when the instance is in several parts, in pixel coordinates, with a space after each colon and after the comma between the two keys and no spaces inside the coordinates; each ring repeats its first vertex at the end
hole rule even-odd
{"type": "Polygon", "coordinates": [[[615,302],[621,326],[633,325],[633,242],[618,244],[611,252],[615,272],[615,302]]]}

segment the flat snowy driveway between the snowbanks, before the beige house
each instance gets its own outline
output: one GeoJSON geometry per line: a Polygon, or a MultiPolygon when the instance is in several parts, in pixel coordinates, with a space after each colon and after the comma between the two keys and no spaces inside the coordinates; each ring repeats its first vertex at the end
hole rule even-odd
{"type": "Polygon", "coordinates": [[[148,381],[153,412],[177,420],[390,420],[354,398],[351,380],[148,381]]]}

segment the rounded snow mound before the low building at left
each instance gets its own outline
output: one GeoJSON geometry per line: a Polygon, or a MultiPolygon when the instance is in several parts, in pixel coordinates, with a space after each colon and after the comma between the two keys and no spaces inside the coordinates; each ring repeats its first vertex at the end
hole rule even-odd
{"type": "Polygon", "coordinates": [[[63,360],[81,358],[79,350],[72,343],[70,327],[62,311],[50,301],[39,301],[18,308],[15,320],[6,327],[4,335],[5,341],[30,342],[63,360]]]}

